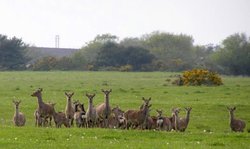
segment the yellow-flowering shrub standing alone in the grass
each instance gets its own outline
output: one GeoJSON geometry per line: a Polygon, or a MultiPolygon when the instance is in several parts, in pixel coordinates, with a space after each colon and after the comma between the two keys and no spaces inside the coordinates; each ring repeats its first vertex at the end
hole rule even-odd
{"type": "Polygon", "coordinates": [[[177,85],[222,85],[221,77],[215,73],[206,69],[193,69],[184,71],[182,76],[179,76],[177,80],[173,82],[177,85]]]}

